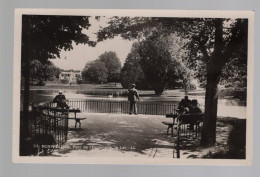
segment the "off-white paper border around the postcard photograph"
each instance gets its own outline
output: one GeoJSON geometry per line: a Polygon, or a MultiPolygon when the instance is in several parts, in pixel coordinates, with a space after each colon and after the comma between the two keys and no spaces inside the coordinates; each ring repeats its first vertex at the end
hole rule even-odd
{"type": "Polygon", "coordinates": [[[48,164],[158,164],[158,165],[251,165],[253,157],[253,80],[254,80],[254,12],[209,10],[129,10],[129,9],[16,9],[14,26],[13,66],[13,140],[14,163],[48,164]],[[172,158],[93,158],[93,157],[23,157],[19,156],[20,132],[20,81],[21,81],[21,27],[23,14],[37,15],[87,15],[87,16],[145,16],[189,18],[248,18],[248,87],[246,110],[246,159],[172,159],[172,158]]]}

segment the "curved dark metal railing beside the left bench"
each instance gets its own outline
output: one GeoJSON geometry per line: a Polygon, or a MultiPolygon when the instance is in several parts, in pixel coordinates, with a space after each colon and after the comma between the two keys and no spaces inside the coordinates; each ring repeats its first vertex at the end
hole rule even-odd
{"type": "Polygon", "coordinates": [[[52,108],[46,104],[33,107],[31,115],[30,131],[35,145],[38,146],[38,154],[59,148],[67,141],[68,110],[52,108]]]}

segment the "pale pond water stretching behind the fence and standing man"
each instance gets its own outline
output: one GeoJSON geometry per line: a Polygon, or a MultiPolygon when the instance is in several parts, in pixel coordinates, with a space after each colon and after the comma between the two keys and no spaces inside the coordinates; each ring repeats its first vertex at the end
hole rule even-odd
{"type": "MultiPolygon", "coordinates": [[[[52,101],[57,95],[58,90],[31,90],[30,103],[41,103],[52,101]]],[[[98,90],[63,90],[67,99],[109,99],[109,100],[127,100],[127,90],[125,89],[98,89],[98,90]]],[[[197,99],[200,108],[204,109],[204,90],[189,93],[189,99],[197,99]]],[[[141,101],[149,102],[171,102],[178,104],[184,97],[182,90],[168,90],[161,96],[154,95],[153,91],[140,91],[141,101]]],[[[23,91],[21,91],[21,106],[23,101],[23,91]]],[[[218,116],[229,116],[237,118],[246,118],[246,102],[237,99],[219,99],[218,116]]]]}

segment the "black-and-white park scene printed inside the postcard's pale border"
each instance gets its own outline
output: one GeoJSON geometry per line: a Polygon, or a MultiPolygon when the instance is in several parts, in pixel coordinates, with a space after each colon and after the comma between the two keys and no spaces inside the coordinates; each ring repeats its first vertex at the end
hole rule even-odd
{"type": "Polygon", "coordinates": [[[248,17],[133,15],[21,15],[19,156],[246,160],[248,17]]]}

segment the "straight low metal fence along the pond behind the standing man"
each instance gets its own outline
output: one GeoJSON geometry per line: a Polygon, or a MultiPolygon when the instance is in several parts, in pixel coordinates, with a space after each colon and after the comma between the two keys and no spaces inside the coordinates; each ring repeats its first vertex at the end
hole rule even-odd
{"type": "MultiPolygon", "coordinates": [[[[69,99],[68,105],[82,112],[92,113],[129,113],[128,101],[100,99],[69,99]]],[[[165,115],[171,113],[177,105],[171,102],[137,102],[138,114],[165,115]]]]}

